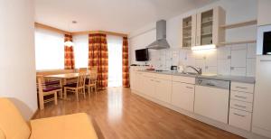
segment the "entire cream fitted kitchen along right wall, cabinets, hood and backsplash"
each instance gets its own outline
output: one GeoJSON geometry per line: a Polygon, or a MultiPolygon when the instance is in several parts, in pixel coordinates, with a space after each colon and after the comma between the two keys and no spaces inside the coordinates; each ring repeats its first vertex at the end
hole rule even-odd
{"type": "Polygon", "coordinates": [[[268,47],[263,33],[270,31],[263,26],[271,23],[264,16],[267,5],[266,0],[247,5],[220,1],[135,32],[129,40],[131,63],[141,66],[130,68],[132,91],[243,137],[271,137],[270,110],[266,110],[271,98],[267,88],[270,56],[265,56],[268,47]],[[206,14],[211,17],[203,20],[206,14]],[[202,24],[211,25],[210,34],[202,24]],[[188,34],[184,33],[187,28],[188,34]],[[148,61],[136,61],[134,51],[145,46],[148,61]]]}

